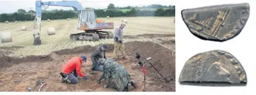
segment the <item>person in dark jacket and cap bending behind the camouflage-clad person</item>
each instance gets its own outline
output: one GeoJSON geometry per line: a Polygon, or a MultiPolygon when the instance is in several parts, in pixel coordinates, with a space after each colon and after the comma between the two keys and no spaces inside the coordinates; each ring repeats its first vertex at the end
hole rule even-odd
{"type": "Polygon", "coordinates": [[[102,46],[96,47],[93,54],[91,55],[91,62],[93,63],[92,70],[93,71],[103,71],[102,65],[99,65],[98,60],[100,58],[106,58],[106,50],[107,45],[104,44],[102,46]]]}

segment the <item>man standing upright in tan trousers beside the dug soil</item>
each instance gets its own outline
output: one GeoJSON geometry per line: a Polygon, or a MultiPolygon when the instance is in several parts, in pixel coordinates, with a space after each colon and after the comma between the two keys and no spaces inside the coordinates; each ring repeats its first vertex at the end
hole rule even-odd
{"type": "Polygon", "coordinates": [[[127,57],[125,56],[125,50],[124,50],[124,44],[123,44],[123,30],[124,27],[126,26],[126,23],[122,23],[118,28],[116,28],[115,30],[115,34],[114,34],[114,51],[113,51],[113,59],[116,59],[116,56],[118,55],[118,51],[121,50],[121,53],[123,55],[122,59],[127,59],[127,57]]]}

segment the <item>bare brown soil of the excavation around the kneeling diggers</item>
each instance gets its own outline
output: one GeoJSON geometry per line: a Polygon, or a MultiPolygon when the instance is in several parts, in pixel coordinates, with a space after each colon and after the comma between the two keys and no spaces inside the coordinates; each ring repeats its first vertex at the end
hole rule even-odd
{"type": "MultiPolygon", "coordinates": [[[[172,55],[170,49],[152,42],[128,42],[125,43],[125,47],[131,61],[118,59],[117,62],[125,66],[132,80],[137,81],[138,88],[132,88],[132,91],[143,91],[144,88],[143,71],[136,64],[138,60],[135,58],[135,53],[140,53],[140,59],[151,57],[150,62],[169,80],[164,81],[151,65],[147,65],[147,91],[175,91],[175,55],[172,55]]],[[[27,91],[27,87],[33,87],[37,80],[45,80],[48,83],[42,91],[116,91],[112,88],[103,88],[103,83],[94,85],[102,74],[102,72],[92,73],[91,71],[90,55],[95,48],[96,46],[81,46],[58,50],[50,55],[32,55],[22,59],[2,54],[0,55],[0,91],[27,91]],[[62,65],[68,59],[81,55],[86,55],[88,58],[82,72],[90,79],[79,80],[77,85],[61,83],[59,72],[62,65]]],[[[112,56],[113,48],[113,45],[108,45],[107,57],[112,56]]]]}

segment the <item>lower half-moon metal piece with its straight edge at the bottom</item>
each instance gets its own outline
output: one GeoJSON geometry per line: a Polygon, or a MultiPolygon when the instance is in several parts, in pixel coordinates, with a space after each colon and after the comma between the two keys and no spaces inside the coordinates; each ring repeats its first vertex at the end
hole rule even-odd
{"type": "Polygon", "coordinates": [[[246,73],[240,62],[223,50],[211,50],[190,58],[179,76],[189,85],[246,85],[246,73]],[[206,84],[200,84],[206,83],[206,84]]]}

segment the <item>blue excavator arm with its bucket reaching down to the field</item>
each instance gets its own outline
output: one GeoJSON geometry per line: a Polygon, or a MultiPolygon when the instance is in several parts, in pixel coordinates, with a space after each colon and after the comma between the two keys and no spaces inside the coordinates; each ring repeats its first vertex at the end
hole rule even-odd
{"type": "Polygon", "coordinates": [[[33,31],[34,45],[42,44],[40,40],[42,7],[48,8],[49,6],[72,7],[76,11],[80,11],[81,9],[84,9],[83,6],[78,1],[49,1],[49,2],[36,1],[36,16],[34,18],[34,31],[33,31]],[[38,28],[37,33],[35,33],[36,25],[38,28]]]}

